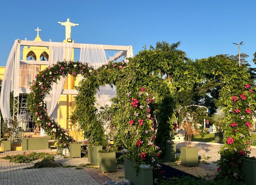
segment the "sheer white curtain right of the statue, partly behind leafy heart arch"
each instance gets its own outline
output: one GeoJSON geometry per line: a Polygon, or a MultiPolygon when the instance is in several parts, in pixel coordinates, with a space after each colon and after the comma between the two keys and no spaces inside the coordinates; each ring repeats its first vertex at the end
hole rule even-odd
{"type": "MultiPolygon", "coordinates": [[[[89,66],[94,66],[95,69],[102,65],[108,64],[107,57],[103,45],[95,44],[82,44],[80,51],[80,62],[88,63],[89,66]]],[[[109,85],[100,86],[97,91],[97,101],[95,106],[99,109],[100,106],[105,104],[111,105],[110,98],[116,96],[115,89],[112,89],[109,85]]]]}

